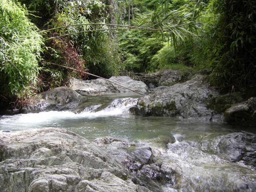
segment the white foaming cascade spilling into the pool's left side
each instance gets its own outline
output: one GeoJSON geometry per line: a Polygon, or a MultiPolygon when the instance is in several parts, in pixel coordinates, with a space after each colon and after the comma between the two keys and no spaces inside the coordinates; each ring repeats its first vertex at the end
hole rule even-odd
{"type": "MultiPolygon", "coordinates": [[[[106,108],[99,110],[102,105],[85,107],[83,112],[74,113],[70,111],[48,111],[30,114],[17,114],[13,116],[2,116],[0,129],[28,129],[39,127],[62,127],[64,121],[82,121],[82,119],[98,118],[100,116],[111,116],[129,113],[129,109],[137,104],[135,98],[118,98],[106,108]],[[17,126],[19,125],[19,126],[17,126]]],[[[65,126],[64,126],[65,127],[65,126]]]]}

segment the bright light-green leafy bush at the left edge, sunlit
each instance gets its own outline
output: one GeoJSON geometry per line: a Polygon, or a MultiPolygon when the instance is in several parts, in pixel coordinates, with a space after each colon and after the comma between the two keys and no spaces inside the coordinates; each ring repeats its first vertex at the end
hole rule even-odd
{"type": "Polygon", "coordinates": [[[0,0],[0,10],[0,94],[26,97],[37,84],[42,37],[20,4],[0,0]]]}

